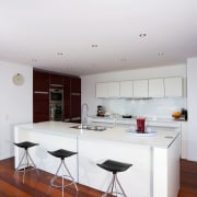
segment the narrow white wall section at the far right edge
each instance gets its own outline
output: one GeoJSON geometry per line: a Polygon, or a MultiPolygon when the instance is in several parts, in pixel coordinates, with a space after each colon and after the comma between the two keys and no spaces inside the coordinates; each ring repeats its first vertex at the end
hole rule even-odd
{"type": "Polygon", "coordinates": [[[197,58],[187,61],[188,160],[197,161],[197,58]]]}

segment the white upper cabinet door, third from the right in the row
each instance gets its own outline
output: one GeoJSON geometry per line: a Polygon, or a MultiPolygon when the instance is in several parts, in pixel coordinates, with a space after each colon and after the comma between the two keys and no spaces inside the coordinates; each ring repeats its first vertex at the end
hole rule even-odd
{"type": "Polygon", "coordinates": [[[148,80],[134,81],[134,97],[148,97],[148,80]]]}

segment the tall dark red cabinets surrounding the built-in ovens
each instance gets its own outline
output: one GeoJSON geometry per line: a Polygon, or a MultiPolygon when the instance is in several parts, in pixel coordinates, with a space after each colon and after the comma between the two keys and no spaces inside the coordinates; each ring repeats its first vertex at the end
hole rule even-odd
{"type": "Polygon", "coordinates": [[[48,121],[49,89],[63,90],[63,120],[81,123],[81,79],[34,69],[33,121],[48,121]]]}

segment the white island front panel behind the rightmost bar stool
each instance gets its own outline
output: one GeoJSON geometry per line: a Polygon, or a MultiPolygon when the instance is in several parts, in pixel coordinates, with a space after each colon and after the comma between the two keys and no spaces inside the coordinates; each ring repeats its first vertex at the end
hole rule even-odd
{"type": "Polygon", "coordinates": [[[151,197],[150,147],[79,139],[79,183],[105,192],[112,173],[100,169],[96,163],[112,159],[134,164],[118,178],[127,196],[151,197]]]}

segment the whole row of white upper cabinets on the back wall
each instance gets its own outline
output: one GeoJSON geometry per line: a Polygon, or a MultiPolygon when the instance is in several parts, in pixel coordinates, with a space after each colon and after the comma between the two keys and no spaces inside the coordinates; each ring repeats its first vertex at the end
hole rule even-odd
{"type": "Polygon", "coordinates": [[[183,79],[179,77],[96,83],[96,97],[181,97],[183,79]]]}

